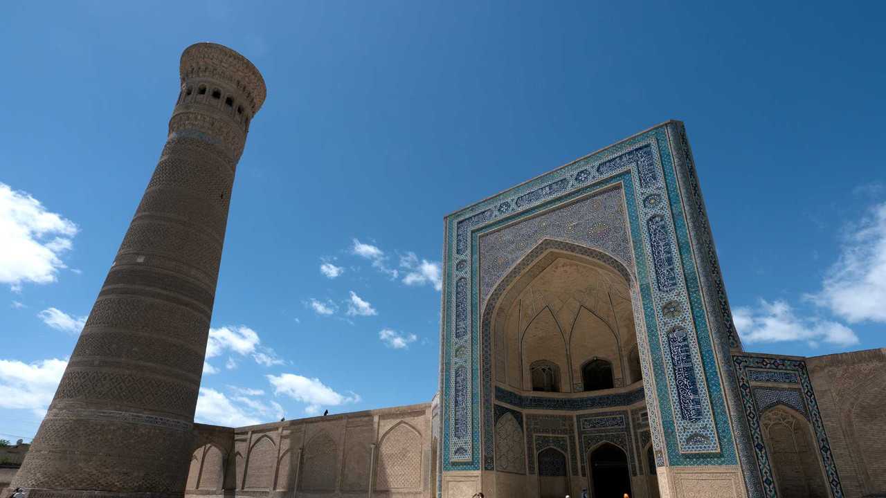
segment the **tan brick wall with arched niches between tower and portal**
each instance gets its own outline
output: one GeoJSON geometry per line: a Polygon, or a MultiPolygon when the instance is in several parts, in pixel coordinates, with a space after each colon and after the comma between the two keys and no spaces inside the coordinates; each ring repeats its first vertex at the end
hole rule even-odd
{"type": "Polygon", "coordinates": [[[431,403],[195,431],[186,496],[431,497],[431,403]]]}

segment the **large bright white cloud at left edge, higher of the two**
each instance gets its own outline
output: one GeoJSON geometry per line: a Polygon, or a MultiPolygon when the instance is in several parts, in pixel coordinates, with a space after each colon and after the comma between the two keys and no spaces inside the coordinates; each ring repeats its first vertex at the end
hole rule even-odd
{"type": "Polygon", "coordinates": [[[47,211],[39,200],[0,183],[0,284],[20,292],[27,282],[56,281],[59,268],[67,268],[62,253],[72,247],[74,222],[47,211]]]}

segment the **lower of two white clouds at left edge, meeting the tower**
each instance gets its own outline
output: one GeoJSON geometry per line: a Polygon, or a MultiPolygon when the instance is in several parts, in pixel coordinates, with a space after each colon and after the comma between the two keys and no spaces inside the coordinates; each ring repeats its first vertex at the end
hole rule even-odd
{"type": "Polygon", "coordinates": [[[29,409],[43,417],[65,373],[66,360],[0,360],[0,409],[29,409]]]}

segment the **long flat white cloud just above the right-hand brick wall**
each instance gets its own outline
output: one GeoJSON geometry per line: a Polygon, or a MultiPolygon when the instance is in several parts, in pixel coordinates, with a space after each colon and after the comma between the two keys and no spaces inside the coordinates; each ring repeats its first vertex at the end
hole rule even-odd
{"type": "Polygon", "coordinates": [[[859,343],[855,332],[842,323],[818,318],[797,317],[794,309],[781,300],[760,300],[758,307],[736,307],[735,329],[748,343],[802,340],[810,346],[824,341],[837,346],[859,343]]]}

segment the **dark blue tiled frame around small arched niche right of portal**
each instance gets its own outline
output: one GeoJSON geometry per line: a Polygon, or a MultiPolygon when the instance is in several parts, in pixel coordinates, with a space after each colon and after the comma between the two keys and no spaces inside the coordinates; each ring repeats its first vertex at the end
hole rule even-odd
{"type": "MultiPolygon", "coordinates": [[[[760,387],[750,385],[749,372],[754,370],[771,370],[777,372],[788,372],[794,374],[799,379],[800,389],[803,394],[803,411],[808,420],[812,423],[815,432],[815,438],[818,442],[821,463],[824,466],[825,474],[830,486],[830,493],[833,498],[843,498],[843,486],[840,485],[840,476],[837,473],[834,463],[834,455],[831,452],[828,434],[825,432],[824,423],[821,420],[818,401],[815,401],[815,393],[812,391],[812,381],[809,379],[809,373],[806,371],[806,363],[802,360],[789,360],[787,358],[771,358],[768,356],[752,356],[750,354],[734,354],[733,364],[735,375],[738,377],[739,390],[742,394],[742,404],[744,405],[744,415],[748,418],[750,425],[751,437],[754,443],[754,452],[757,456],[757,465],[760,477],[763,481],[763,491],[767,498],[778,498],[775,489],[775,480],[773,478],[772,463],[766,452],[766,443],[763,439],[763,432],[760,429],[760,416],[763,415],[765,409],[758,405],[758,398],[755,396],[755,390],[760,387]]],[[[792,391],[792,390],[782,390],[792,391]]],[[[799,392],[797,392],[799,393],[799,392]]],[[[781,398],[779,401],[787,401],[784,404],[797,404],[797,400],[789,399],[790,393],[767,393],[761,396],[761,400],[765,403],[773,401],[773,398],[781,398]]],[[[778,401],[776,401],[778,402],[778,401]]],[[[788,406],[791,406],[788,404],[788,406]]],[[[767,406],[772,408],[772,405],[767,406]]],[[[794,407],[792,407],[794,408],[794,407]]],[[[796,408],[795,408],[796,409],[796,408]]],[[[800,410],[798,410],[800,411],[800,410]]]]}

